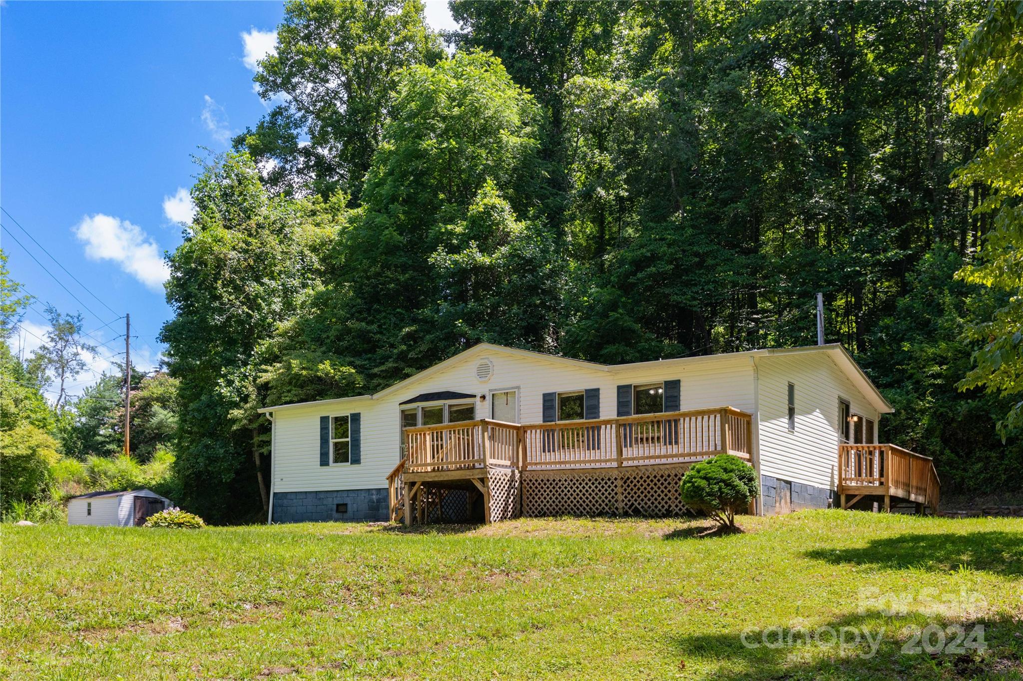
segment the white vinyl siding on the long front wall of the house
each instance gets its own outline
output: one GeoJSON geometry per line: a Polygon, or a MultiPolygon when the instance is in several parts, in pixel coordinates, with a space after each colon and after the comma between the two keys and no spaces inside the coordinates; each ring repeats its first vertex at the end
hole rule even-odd
{"type": "Polygon", "coordinates": [[[387,474],[400,460],[400,402],[421,393],[452,390],[477,395],[476,418],[490,414],[489,403],[479,401],[492,389],[515,386],[519,390],[521,423],[543,421],[545,392],[571,392],[583,388],[601,389],[601,418],[616,416],[616,390],[624,384],[649,384],[665,380],[681,381],[681,408],[700,409],[730,405],[753,411],[753,370],[749,357],[719,355],[680,363],[643,362],[634,367],[604,371],[599,367],[553,362],[543,357],[525,356],[487,348],[466,352],[444,371],[381,399],[360,397],[342,403],[310,404],[278,409],[274,415],[275,437],[273,491],[370,489],[387,485],[387,474]],[[482,358],[490,359],[493,376],[480,383],[476,369],[482,358]],[[339,412],[362,414],[362,465],[320,467],[319,418],[339,412]]]}

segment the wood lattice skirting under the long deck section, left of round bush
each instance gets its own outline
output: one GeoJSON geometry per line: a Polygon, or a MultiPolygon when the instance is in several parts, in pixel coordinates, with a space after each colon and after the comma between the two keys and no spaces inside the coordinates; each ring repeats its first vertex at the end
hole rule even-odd
{"type": "Polygon", "coordinates": [[[680,516],[687,509],[678,484],[690,466],[527,470],[522,473],[522,515],[680,516]]]}

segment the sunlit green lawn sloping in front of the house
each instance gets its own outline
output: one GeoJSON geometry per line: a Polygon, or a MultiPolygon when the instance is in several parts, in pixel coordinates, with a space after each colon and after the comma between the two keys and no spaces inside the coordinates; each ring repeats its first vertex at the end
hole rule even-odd
{"type": "Polygon", "coordinates": [[[1023,678],[1023,522],[742,521],[5,526],[0,677],[1023,678]],[[976,623],[982,652],[901,649],[976,623]],[[743,644],[821,626],[877,653],[743,644]]]}

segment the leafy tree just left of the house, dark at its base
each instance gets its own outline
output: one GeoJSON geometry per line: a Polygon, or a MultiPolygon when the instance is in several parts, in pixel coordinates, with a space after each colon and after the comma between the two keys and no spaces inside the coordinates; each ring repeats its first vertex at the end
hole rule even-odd
{"type": "Polygon", "coordinates": [[[196,214],[169,257],[167,299],[175,318],[161,332],[168,371],[179,381],[175,468],[185,502],[214,520],[246,517],[257,471],[247,466],[251,400],[260,342],[295,315],[318,285],[314,201],[271,197],[247,154],[207,163],[191,191],[196,214]],[[247,424],[248,425],[248,424],[247,424]],[[241,499],[232,507],[232,495],[241,499]]]}

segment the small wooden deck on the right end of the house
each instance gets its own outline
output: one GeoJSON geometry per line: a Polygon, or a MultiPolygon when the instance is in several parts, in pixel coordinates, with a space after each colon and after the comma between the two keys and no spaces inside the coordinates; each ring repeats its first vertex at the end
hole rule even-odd
{"type": "Polygon", "coordinates": [[[893,444],[842,444],[838,448],[838,493],[842,507],[862,498],[884,498],[885,510],[892,499],[902,499],[936,513],[941,495],[934,461],[929,456],[893,444]]]}

